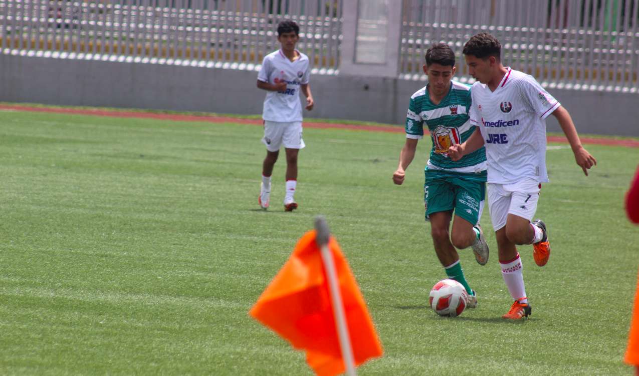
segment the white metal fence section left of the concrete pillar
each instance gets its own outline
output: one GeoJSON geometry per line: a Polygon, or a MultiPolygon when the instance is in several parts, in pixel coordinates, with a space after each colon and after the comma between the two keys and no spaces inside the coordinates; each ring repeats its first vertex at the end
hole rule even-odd
{"type": "Polygon", "coordinates": [[[339,64],[342,0],[0,0],[4,53],[248,68],[300,25],[319,73],[339,64]]]}

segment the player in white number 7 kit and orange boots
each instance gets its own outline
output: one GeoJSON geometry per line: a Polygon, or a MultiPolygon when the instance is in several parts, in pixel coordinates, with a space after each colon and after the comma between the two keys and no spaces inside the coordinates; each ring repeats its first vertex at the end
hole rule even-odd
{"type": "Polygon", "coordinates": [[[477,80],[471,88],[472,121],[478,130],[466,142],[449,149],[452,160],[486,146],[488,160],[488,208],[502,276],[514,303],[503,317],[530,315],[523,283],[518,244],[533,244],[535,263],[544,266],[550,257],[546,225],[532,220],[541,183],[546,174],[546,117],[557,118],[573,149],[577,164],[588,175],[595,158],[581,146],[570,114],[530,75],[501,63],[501,45],[494,36],[480,33],[468,40],[463,54],[469,73],[477,80]]]}

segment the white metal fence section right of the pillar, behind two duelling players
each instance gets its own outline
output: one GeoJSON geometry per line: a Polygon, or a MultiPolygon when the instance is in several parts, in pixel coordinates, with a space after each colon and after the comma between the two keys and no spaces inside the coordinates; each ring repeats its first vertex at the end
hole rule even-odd
{"type": "Polygon", "coordinates": [[[401,74],[422,79],[424,53],[449,43],[461,80],[461,50],[488,31],[505,65],[545,86],[637,93],[639,0],[403,0],[401,74]]]}

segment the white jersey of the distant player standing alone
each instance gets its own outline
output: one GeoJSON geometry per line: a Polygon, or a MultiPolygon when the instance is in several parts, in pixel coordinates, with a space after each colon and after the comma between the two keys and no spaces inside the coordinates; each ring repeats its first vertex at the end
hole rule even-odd
{"type": "Polygon", "coordinates": [[[311,68],[309,58],[295,50],[300,56],[290,61],[282,50],[271,52],[264,57],[258,80],[276,84],[286,81],[283,91],[268,91],[264,100],[262,118],[268,121],[293,122],[302,121],[302,104],[300,103],[300,86],[309,83],[311,68]]]}

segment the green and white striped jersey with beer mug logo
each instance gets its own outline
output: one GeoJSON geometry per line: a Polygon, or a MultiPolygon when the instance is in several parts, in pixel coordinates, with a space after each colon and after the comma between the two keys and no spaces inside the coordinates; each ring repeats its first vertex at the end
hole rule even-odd
{"type": "MultiPolygon", "coordinates": [[[[470,86],[451,80],[450,90],[438,105],[431,102],[427,86],[419,89],[410,97],[406,114],[406,138],[422,139],[424,124],[431,134],[433,148],[426,165],[431,177],[468,174],[476,180],[486,181],[486,149],[481,147],[461,160],[454,162],[448,157],[448,148],[461,144],[473,132],[475,125],[470,123],[471,110],[470,86]]],[[[475,180],[473,179],[473,180],[475,180]]]]}

